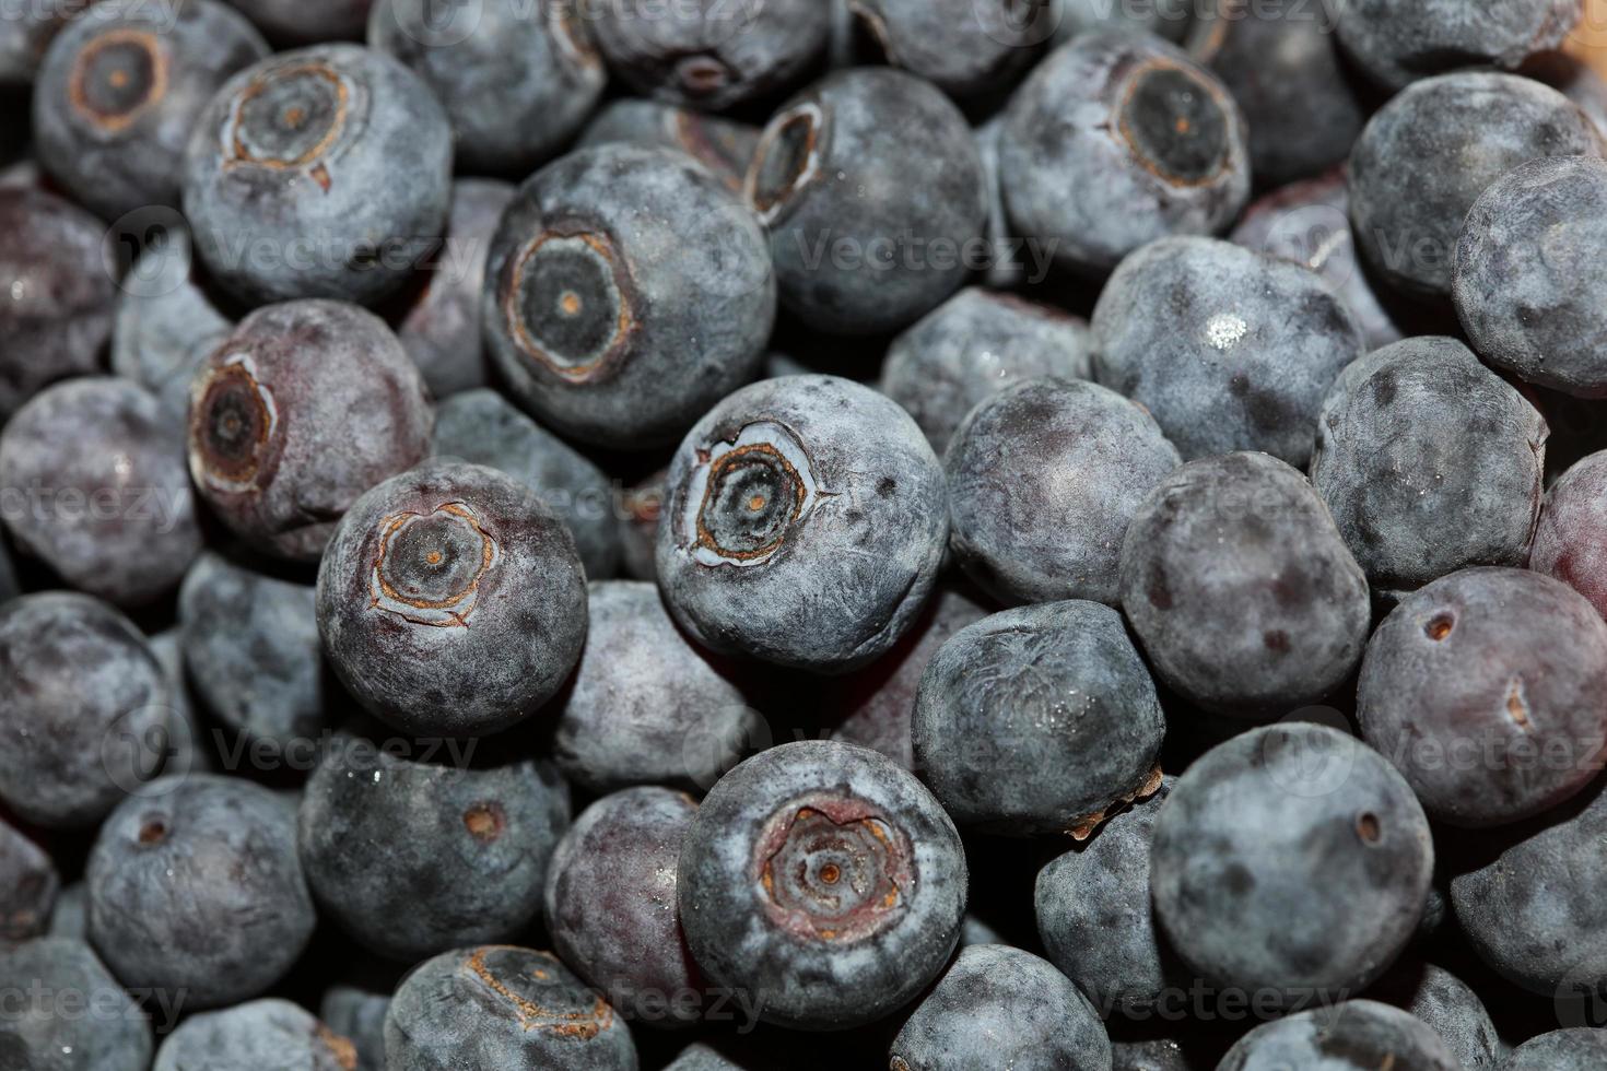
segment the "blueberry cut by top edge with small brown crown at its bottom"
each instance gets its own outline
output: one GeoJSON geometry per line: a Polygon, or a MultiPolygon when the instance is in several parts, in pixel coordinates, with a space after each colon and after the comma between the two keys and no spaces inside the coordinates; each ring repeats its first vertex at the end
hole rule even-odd
{"type": "Polygon", "coordinates": [[[783,90],[826,47],[821,0],[614,0],[588,11],[609,66],[644,96],[723,111],[783,90]]]}

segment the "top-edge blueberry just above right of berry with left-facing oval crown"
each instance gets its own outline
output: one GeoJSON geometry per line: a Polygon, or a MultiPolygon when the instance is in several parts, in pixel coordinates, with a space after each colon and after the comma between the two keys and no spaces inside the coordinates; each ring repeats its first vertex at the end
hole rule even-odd
{"type": "Polygon", "coordinates": [[[890,66],[916,74],[955,98],[1008,90],[1048,39],[1045,5],[972,0],[850,0],[860,26],[890,66]]]}

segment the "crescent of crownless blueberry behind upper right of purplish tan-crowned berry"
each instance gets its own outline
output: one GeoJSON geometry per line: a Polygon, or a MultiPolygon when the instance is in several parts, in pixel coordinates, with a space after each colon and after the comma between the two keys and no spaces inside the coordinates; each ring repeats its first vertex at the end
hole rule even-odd
{"type": "Polygon", "coordinates": [[[434,453],[527,483],[569,527],[587,576],[604,580],[619,570],[620,530],[607,475],[495,390],[468,390],[435,409],[434,453]]]}

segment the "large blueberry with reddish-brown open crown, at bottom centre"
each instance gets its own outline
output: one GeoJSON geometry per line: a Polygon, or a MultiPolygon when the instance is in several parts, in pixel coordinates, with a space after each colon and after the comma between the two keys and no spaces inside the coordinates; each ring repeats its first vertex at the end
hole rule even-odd
{"type": "Polygon", "coordinates": [[[887,1016],[948,962],[966,910],[959,833],[889,759],[784,743],[714,787],[681,848],[697,967],[791,1029],[887,1016]]]}

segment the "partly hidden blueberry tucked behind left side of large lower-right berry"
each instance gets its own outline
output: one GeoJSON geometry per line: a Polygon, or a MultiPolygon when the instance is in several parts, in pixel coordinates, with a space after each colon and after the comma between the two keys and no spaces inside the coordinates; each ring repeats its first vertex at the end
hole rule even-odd
{"type": "Polygon", "coordinates": [[[1146,1018],[1168,988],[1188,988],[1155,931],[1149,893],[1155,816],[1175,784],[1168,777],[1038,870],[1033,909],[1045,955],[1101,1015],[1146,1018]]]}

